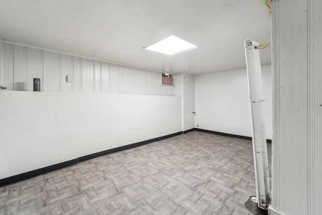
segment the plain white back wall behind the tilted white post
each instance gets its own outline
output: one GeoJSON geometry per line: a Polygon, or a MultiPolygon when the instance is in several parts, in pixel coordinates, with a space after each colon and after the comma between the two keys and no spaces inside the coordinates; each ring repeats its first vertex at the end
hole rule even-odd
{"type": "MultiPolygon", "coordinates": [[[[272,138],[271,65],[262,66],[267,138],[272,138]]],[[[252,136],[247,69],[195,76],[195,123],[199,128],[252,136]]]]}

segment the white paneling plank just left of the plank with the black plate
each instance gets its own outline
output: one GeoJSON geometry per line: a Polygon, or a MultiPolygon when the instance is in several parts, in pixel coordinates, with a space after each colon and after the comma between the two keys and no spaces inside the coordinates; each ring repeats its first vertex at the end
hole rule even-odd
{"type": "Polygon", "coordinates": [[[25,91],[24,47],[14,45],[14,90],[25,91]]]}

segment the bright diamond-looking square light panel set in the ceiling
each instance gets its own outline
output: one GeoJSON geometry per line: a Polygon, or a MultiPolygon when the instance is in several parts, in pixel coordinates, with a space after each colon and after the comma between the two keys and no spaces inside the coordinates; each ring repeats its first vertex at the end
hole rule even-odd
{"type": "Polygon", "coordinates": [[[153,45],[149,45],[144,48],[162,53],[167,56],[173,56],[198,47],[172,35],[164,40],[161,40],[157,43],[154,43],[153,45]]]}

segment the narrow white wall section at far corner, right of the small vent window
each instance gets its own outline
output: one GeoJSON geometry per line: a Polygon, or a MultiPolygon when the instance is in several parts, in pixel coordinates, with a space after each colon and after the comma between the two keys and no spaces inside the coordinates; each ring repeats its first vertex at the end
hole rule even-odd
{"type": "Polygon", "coordinates": [[[195,127],[195,76],[183,74],[183,130],[195,127]]]}

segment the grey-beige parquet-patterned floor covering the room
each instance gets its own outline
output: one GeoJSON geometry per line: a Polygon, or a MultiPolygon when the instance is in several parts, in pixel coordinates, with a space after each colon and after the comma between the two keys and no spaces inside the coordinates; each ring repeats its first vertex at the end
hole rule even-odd
{"type": "Polygon", "coordinates": [[[250,195],[252,141],[193,131],[1,187],[0,214],[251,214],[250,195]]]}

